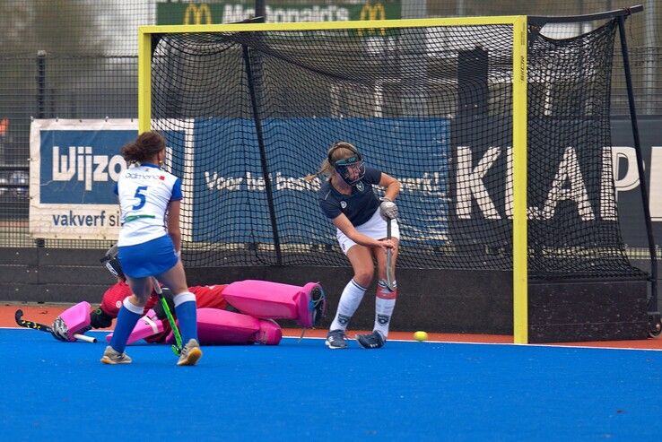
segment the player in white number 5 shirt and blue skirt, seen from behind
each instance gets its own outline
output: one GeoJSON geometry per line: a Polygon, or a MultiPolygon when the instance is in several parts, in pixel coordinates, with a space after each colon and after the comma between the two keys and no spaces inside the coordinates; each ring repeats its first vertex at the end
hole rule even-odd
{"type": "Polygon", "coordinates": [[[144,132],[122,147],[129,168],[120,174],[115,189],[122,225],[118,259],[132,295],[124,299],[119,309],[115,332],[101,358],[106,364],[131,362],[124,350],[152,295],[152,276],[174,294],[179,328],[186,342],[177,365],[195,365],[202,356],[197,341],[196,295],[188,290],[179,259],[181,181],[161,169],[165,147],[164,138],[156,132],[144,132]]]}

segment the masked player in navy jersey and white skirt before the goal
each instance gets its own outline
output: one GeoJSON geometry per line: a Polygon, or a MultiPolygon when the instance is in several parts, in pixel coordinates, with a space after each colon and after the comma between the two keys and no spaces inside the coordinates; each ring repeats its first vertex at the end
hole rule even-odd
{"type": "Polygon", "coordinates": [[[397,245],[400,238],[397,226],[397,206],[393,201],[400,191],[400,183],[386,173],[367,167],[361,153],[351,143],[339,142],[331,146],[318,174],[324,174],[319,191],[319,206],[333,222],[336,237],[344,254],[352,264],[353,278],[344,287],[338,310],[327,335],[327,347],[347,347],[345,331],[365,290],[370,286],[377,261],[378,286],[375,302],[375,325],[371,334],[360,334],[361,347],[380,348],[388,337],[393,308],[396,305],[396,282],[387,284],[387,250],[392,249],[391,269],[395,272],[397,245]],[[379,199],[372,186],[386,187],[379,199]],[[392,238],[387,238],[387,222],[391,222],[392,238]]]}

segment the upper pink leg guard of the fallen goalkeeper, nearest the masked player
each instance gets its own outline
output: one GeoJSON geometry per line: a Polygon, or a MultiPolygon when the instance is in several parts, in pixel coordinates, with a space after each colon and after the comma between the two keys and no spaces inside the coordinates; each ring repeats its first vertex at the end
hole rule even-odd
{"type": "Polygon", "coordinates": [[[299,287],[280,282],[239,281],[228,285],[222,294],[242,313],[268,319],[294,319],[307,328],[318,322],[326,308],[324,290],[315,282],[299,287]]]}

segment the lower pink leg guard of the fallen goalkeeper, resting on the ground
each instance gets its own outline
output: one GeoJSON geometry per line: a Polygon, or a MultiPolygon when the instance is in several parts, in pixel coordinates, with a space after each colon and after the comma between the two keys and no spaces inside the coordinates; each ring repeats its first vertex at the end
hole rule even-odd
{"type": "Polygon", "coordinates": [[[197,336],[201,345],[277,345],[283,334],[281,327],[270,320],[217,308],[198,308],[197,336]]]}

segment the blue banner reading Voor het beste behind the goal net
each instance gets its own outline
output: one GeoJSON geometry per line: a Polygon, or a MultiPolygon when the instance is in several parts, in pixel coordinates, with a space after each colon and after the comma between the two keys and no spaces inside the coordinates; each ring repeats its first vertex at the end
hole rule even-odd
{"type": "Polygon", "coordinates": [[[369,166],[401,181],[398,205],[411,240],[424,238],[428,244],[445,240],[448,119],[267,118],[261,125],[265,164],[253,120],[196,121],[194,241],[274,244],[273,222],[281,244],[335,241],[335,227],[318,206],[320,178],[309,182],[304,177],[319,169],[328,147],[339,140],[354,143],[369,166]],[[391,145],[385,156],[384,148],[391,145]],[[263,167],[271,176],[274,220],[263,167]]]}

